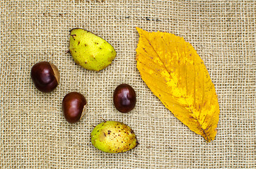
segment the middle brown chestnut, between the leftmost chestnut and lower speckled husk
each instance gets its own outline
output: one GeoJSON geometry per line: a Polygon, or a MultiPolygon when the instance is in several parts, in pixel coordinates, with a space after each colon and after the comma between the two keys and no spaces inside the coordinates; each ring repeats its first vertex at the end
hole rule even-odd
{"type": "Polygon", "coordinates": [[[66,94],[62,101],[64,118],[66,118],[69,123],[78,122],[81,120],[81,118],[83,118],[86,104],[86,98],[83,96],[83,94],[78,92],[66,94]]]}

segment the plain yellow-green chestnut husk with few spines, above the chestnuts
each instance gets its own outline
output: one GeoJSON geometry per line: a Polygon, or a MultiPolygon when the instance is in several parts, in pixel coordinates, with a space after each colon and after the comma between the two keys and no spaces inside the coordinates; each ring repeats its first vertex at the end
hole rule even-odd
{"type": "Polygon", "coordinates": [[[103,70],[117,55],[111,44],[87,30],[74,28],[70,35],[69,52],[75,63],[87,70],[103,70]]]}

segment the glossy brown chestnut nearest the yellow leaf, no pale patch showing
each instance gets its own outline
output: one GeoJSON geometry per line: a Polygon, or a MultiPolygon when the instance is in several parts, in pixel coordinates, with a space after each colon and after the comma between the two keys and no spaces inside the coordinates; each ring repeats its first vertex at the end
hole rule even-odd
{"type": "Polygon", "coordinates": [[[117,111],[127,113],[134,109],[136,104],[136,93],[129,84],[120,84],[115,88],[113,100],[117,111]]]}

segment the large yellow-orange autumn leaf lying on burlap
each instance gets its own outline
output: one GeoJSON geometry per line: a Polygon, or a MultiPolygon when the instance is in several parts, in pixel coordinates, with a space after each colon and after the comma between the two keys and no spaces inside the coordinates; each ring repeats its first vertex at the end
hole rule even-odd
{"type": "Polygon", "coordinates": [[[207,142],[214,140],[219,103],[204,62],[182,37],[139,32],[137,68],[142,80],[176,118],[207,142]]]}

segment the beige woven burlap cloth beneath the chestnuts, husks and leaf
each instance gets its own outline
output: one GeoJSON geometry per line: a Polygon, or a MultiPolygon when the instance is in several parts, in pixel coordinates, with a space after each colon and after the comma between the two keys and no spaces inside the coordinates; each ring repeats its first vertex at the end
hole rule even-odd
{"type": "Polygon", "coordinates": [[[0,2],[0,168],[256,168],[255,1],[2,0],[0,2]],[[100,72],[75,65],[69,30],[81,27],[117,51],[100,72]],[[152,94],[136,69],[135,27],[170,32],[190,42],[214,82],[220,105],[216,139],[207,143],[152,94]],[[54,92],[37,91],[31,67],[50,61],[61,73],[54,92]],[[112,104],[118,84],[136,91],[136,107],[112,104]],[[62,99],[88,100],[70,125],[62,99]],[[117,120],[132,127],[139,146],[122,154],[95,149],[93,125],[117,120]]]}

